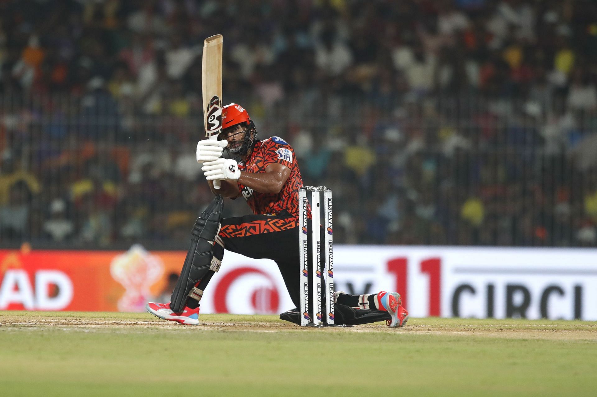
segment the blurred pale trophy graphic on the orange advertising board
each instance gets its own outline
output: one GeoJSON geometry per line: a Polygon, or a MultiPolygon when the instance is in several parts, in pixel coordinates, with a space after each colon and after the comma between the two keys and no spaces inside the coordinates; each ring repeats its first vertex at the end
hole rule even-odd
{"type": "Polygon", "coordinates": [[[159,280],[163,272],[161,260],[139,244],[116,256],[110,263],[110,273],[125,288],[124,295],[118,300],[118,310],[144,311],[145,303],[152,299],[149,287],[159,280]]]}

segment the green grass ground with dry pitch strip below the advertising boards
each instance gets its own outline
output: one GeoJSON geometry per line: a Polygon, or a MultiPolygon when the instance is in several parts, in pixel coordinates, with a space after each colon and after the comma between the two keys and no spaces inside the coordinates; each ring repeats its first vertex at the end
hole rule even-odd
{"type": "Polygon", "coordinates": [[[0,312],[1,396],[594,396],[597,322],[0,312]]]}

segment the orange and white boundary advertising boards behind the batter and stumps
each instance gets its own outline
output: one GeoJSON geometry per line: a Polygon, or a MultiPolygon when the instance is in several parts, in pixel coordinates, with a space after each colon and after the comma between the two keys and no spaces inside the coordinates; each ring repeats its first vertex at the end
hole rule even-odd
{"type": "MultiPolygon", "coordinates": [[[[185,254],[0,250],[0,309],[143,311],[185,254]]],[[[411,317],[597,320],[595,249],[336,246],[334,280],[355,294],[397,290],[411,317]]],[[[201,302],[202,313],[293,307],[275,263],[230,252],[201,302]]]]}

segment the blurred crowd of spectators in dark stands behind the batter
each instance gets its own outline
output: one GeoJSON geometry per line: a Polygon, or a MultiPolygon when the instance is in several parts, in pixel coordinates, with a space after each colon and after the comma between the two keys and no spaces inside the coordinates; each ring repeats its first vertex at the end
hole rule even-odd
{"type": "MultiPolygon", "coordinates": [[[[597,245],[597,4],[0,2],[0,241],[184,247],[224,102],[334,192],[336,241],[597,245]]],[[[227,215],[248,209],[227,203],[227,215]]]]}

